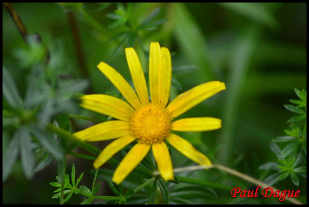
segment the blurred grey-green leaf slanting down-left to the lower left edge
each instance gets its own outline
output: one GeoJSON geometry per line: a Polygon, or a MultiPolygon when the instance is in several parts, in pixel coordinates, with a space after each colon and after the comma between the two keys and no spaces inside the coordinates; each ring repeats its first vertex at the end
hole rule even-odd
{"type": "Polygon", "coordinates": [[[6,178],[11,174],[13,170],[19,149],[20,139],[23,137],[23,131],[21,129],[17,129],[13,135],[12,141],[6,147],[6,151],[3,154],[2,159],[2,182],[6,180],[6,178]]]}

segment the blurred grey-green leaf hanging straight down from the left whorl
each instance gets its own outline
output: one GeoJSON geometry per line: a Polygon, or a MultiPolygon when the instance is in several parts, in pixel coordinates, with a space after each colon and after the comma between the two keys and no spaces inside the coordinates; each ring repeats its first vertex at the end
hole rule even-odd
{"type": "Polygon", "coordinates": [[[31,149],[31,137],[26,127],[23,126],[20,130],[20,133],[23,136],[19,142],[20,161],[26,178],[31,179],[33,177],[33,170],[35,165],[34,153],[31,149]]]}

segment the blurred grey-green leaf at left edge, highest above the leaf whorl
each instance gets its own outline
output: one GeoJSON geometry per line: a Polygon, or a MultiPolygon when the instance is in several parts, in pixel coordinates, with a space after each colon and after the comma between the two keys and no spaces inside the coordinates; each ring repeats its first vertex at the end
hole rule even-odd
{"type": "MultiPolygon", "coordinates": [[[[19,108],[20,95],[10,73],[2,66],[2,94],[13,108],[19,108]]],[[[2,176],[3,177],[3,176],[2,176]]]]}

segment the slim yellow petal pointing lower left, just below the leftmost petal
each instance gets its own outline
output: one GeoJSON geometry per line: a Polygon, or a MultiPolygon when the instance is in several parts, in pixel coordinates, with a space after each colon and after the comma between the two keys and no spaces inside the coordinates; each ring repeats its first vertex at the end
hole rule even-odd
{"type": "Polygon", "coordinates": [[[110,143],[104,150],[99,154],[98,158],[93,163],[94,168],[101,167],[106,161],[108,161],[114,154],[116,154],[119,150],[130,144],[135,140],[135,137],[128,135],[125,137],[121,137],[116,139],[112,143],[110,143]]]}

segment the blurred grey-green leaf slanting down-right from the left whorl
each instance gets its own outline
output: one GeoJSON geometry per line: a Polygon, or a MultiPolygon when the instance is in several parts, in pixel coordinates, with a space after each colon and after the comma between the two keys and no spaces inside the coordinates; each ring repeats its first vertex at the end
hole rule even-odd
{"type": "Polygon", "coordinates": [[[64,150],[60,145],[54,141],[53,137],[50,136],[49,133],[42,131],[36,125],[31,124],[29,126],[31,132],[36,137],[36,139],[40,142],[40,144],[45,147],[50,154],[53,155],[57,160],[63,160],[64,158],[64,150]]]}

